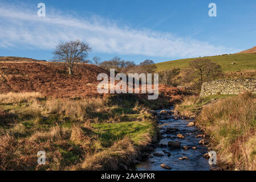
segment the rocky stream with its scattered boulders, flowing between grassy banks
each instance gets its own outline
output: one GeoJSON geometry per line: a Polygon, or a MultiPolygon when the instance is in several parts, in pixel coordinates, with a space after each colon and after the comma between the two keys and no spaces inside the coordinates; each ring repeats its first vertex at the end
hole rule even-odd
{"type": "Polygon", "coordinates": [[[137,171],[209,171],[218,170],[208,162],[205,135],[193,121],[178,119],[173,108],[152,111],[159,118],[160,141],[148,157],[136,165],[137,171]]]}

